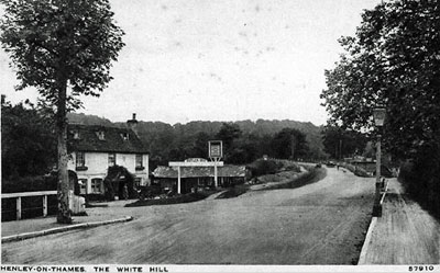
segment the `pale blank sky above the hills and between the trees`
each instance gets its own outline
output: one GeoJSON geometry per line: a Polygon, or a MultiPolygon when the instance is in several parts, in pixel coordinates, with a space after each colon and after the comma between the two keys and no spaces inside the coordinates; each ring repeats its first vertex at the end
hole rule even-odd
{"type": "MultiPolygon", "coordinates": [[[[323,70],[380,0],[110,0],[127,46],[100,98],[78,111],[127,121],[295,120],[324,124],[323,70]]],[[[2,15],[2,11],[0,11],[2,15]]],[[[16,103],[0,50],[0,90],[16,103]]]]}

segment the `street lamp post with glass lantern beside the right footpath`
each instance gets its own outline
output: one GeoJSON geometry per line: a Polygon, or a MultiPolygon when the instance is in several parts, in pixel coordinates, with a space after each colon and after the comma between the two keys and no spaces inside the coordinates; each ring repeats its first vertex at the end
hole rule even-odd
{"type": "Polygon", "coordinates": [[[376,193],[373,205],[373,216],[381,217],[382,216],[382,204],[381,204],[381,128],[384,125],[385,121],[385,109],[384,107],[375,107],[373,110],[374,124],[378,130],[377,134],[377,144],[376,144],[376,193]]]}

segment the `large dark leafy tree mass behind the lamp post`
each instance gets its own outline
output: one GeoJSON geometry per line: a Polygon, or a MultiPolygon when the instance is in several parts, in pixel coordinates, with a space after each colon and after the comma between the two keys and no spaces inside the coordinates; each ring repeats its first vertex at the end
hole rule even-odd
{"type": "Polygon", "coordinates": [[[385,150],[414,159],[409,192],[440,214],[439,2],[382,2],[362,14],[355,36],[340,43],[345,54],[326,71],[321,93],[330,124],[369,130],[373,107],[384,104],[385,150]]]}

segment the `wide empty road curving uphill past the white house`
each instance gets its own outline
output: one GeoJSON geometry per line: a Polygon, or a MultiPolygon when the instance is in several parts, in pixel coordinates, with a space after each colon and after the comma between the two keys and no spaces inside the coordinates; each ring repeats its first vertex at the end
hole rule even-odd
{"type": "Polygon", "coordinates": [[[150,207],[92,208],[133,221],[2,244],[2,263],[352,264],[374,179],[329,169],[294,190],[150,207]],[[106,211],[107,209],[107,211],[106,211]]]}

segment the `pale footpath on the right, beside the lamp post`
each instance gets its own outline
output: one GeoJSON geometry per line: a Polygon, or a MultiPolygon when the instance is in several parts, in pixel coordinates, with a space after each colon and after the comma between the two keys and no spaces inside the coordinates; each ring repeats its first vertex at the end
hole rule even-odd
{"type": "Polygon", "coordinates": [[[382,217],[373,217],[359,264],[440,264],[440,221],[388,180],[382,217]]]}

